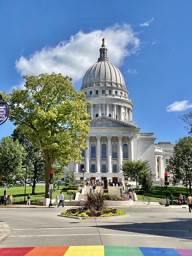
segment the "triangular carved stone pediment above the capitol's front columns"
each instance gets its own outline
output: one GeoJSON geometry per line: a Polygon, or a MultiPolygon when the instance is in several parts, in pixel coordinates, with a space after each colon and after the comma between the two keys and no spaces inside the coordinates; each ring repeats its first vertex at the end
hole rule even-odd
{"type": "Polygon", "coordinates": [[[90,127],[120,127],[120,128],[133,128],[135,126],[119,121],[110,117],[97,117],[91,120],[90,127]]]}

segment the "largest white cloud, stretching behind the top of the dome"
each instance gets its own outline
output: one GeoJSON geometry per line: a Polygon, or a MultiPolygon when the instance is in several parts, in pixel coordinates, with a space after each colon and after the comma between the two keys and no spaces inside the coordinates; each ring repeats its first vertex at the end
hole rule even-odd
{"type": "Polygon", "coordinates": [[[79,31],[68,41],[61,41],[55,47],[45,47],[30,56],[22,56],[15,62],[16,70],[22,76],[61,73],[72,77],[76,83],[97,61],[103,37],[108,48],[108,58],[116,66],[122,65],[126,56],[135,54],[140,49],[140,40],[133,28],[127,24],[116,24],[87,34],[79,31]]]}

